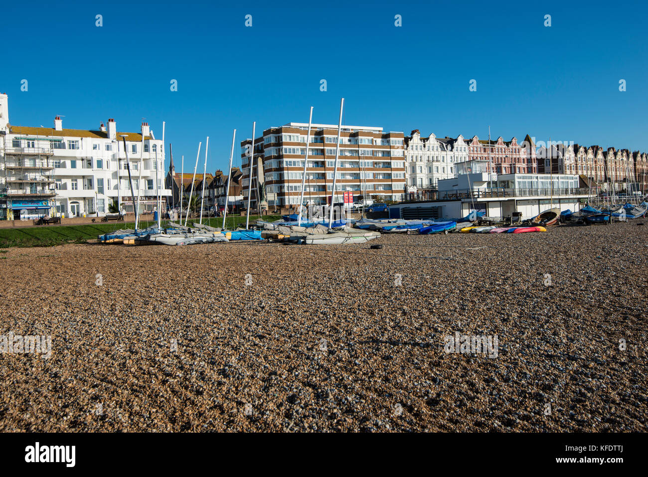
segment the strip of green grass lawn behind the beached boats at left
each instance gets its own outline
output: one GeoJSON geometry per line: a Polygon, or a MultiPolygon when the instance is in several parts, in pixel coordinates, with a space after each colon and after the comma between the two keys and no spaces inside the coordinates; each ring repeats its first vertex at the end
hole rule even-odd
{"type": "MultiPolygon", "coordinates": [[[[253,224],[257,218],[262,220],[278,220],[281,218],[279,215],[264,215],[259,217],[257,215],[250,216],[249,222],[253,224]]],[[[178,221],[179,222],[179,221],[178,221]]],[[[187,226],[191,226],[193,222],[198,222],[198,218],[192,220],[189,218],[187,226]]],[[[235,227],[245,227],[246,217],[242,216],[228,216],[227,229],[235,227]]],[[[146,228],[154,225],[155,222],[142,222],[140,228],[146,228]]],[[[168,224],[167,220],[162,221],[164,227],[168,224]]],[[[212,227],[222,227],[223,219],[221,218],[203,218],[203,224],[212,227]]],[[[97,224],[84,224],[80,226],[38,226],[38,227],[24,227],[24,228],[0,228],[0,248],[8,247],[50,247],[54,245],[62,245],[69,243],[84,243],[92,238],[97,238],[98,235],[113,232],[119,229],[133,228],[135,224],[132,222],[108,222],[97,224]]]]}

